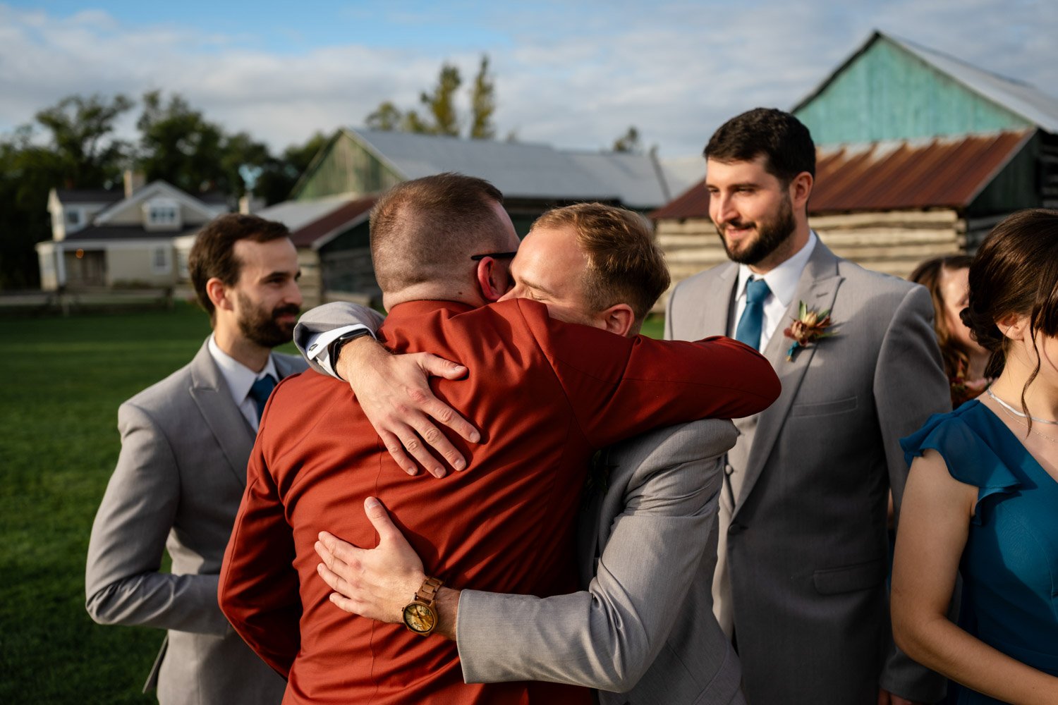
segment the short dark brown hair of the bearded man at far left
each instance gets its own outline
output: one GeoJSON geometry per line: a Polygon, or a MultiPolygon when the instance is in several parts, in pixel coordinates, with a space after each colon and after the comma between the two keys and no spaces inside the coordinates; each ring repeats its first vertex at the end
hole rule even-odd
{"type": "Polygon", "coordinates": [[[209,314],[211,320],[215,311],[205,283],[214,277],[227,286],[238,283],[242,262],[235,256],[235,243],[239,240],[269,242],[289,237],[290,230],[282,223],[237,212],[215,218],[202,228],[188,256],[187,268],[199,305],[209,314]]]}

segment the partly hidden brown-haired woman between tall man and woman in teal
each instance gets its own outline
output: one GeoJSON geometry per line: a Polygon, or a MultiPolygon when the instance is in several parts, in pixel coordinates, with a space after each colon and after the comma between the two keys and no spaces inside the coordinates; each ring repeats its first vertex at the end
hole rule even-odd
{"type": "Polygon", "coordinates": [[[988,351],[970,337],[970,329],[959,317],[969,295],[972,259],[967,255],[934,257],[915,267],[908,277],[928,289],[933,299],[933,331],[941,346],[954,409],[975,398],[988,386],[985,376],[988,351]]]}

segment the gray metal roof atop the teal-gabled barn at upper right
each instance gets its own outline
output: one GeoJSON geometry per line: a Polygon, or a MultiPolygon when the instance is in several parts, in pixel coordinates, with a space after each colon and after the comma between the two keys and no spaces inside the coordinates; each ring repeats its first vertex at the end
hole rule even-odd
{"type": "Polygon", "coordinates": [[[913,54],[974,93],[1006,108],[1013,113],[1021,115],[1037,127],[1058,134],[1058,97],[1043,93],[1040,89],[1024,81],[1000,76],[990,71],[970,66],[953,56],[948,56],[942,52],[916,44],[913,41],[899,39],[891,34],[877,31],[873,32],[859,49],[853,52],[822,84],[802,98],[790,112],[797,112],[822,93],[838,74],[844,71],[860,54],[880,39],[888,40],[904,51],[913,54]]]}

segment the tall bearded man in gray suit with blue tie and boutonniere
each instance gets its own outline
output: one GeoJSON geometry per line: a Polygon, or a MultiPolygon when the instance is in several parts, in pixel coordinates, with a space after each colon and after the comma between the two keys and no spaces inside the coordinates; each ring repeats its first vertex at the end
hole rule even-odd
{"type": "Polygon", "coordinates": [[[714,609],[746,698],[934,702],[943,680],[893,647],[886,589],[888,497],[898,516],[908,472],[897,440],[949,404],[929,294],[836,257],[810,230],[816,151],[792,115],[738,115],[706,157],[732,262],[675,289],[665,337],[732,335],[783,385],[736,422],[720,495],[714,609]]]}

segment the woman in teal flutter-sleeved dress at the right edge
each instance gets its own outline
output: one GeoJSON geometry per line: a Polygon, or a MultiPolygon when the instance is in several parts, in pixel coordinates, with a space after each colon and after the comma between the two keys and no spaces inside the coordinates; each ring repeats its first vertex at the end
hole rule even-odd
{"type": "Polygon", "coordinates": [[[901,441],[896,643],[959,704],[1058,703],[1058,211],[1015,214],[970,266],[962,314],[988,391],[901,441]],[[946,617],[963,577],[959,626],[946,617]]]}

